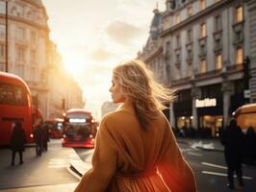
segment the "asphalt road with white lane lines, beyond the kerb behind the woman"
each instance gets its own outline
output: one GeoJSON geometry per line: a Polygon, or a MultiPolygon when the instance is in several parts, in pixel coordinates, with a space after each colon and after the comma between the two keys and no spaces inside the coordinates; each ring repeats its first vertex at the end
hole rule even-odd
{"type": "MultiPolygon", "coordinates": [[[[231,191],[226,188],[226,165],[223,152],[196,149],[192,147],[192,144],[188,144],[188,142],[178,142],[178,144],[192,167],[198,192],[231,191]]],[[[84,161],[90,163],[93,150],[75,149],[75,151],[84,161]]],[[[237,189],[233,191],[254,192],[256,186],[256,166],[243,164],[243,176],[245,186],[243,189],[238,189],[238,184],[235,182],[237,189]]]]}

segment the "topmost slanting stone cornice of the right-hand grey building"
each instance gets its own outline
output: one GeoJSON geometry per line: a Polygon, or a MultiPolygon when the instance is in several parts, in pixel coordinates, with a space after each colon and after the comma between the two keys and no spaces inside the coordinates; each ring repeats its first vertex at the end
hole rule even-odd
{"type": "Polygon", "coordinates": [[[220,9],[224,9],[225,6],[231,5],[234,2],[235,1],[233,1],[233,0],[222,0],[222,1],[219,1],[218,3],[213,4],[212,6],[206,8],[205,10],[193,14],[191,17],[183,20],[179,24],[174,25],[174,26],[166,29],[165,31],[163,31],[161,33],[160,36],[162,36],[162,37],[168,36],[169,34],[174,33],[176,31],[182,29],[183,27],[188,26],[189,24],[192,24],[193,22],[198,22],[199,19],[209,15],[212,12],[215,12],[217,10],[219,11],[220,9]]]}

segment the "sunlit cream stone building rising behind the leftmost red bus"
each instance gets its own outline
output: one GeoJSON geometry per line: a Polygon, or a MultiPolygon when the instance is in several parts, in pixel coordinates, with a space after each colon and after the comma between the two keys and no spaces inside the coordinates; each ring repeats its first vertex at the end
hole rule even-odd
{"type": "MultiPolygon", "coordinates": [[[[54,112],[51,110],[54,110],[54,106],[59,102],[53,100],[53,95],[58,95],[57,90],[59,90],[54,88],[53,84],[61,84],[61,79],[54,79],[53,75],[51,76],[56,73],[53,71],[56,66],[53,65],[57,63],[54,63],[53,58],[59,56],[49,38],[46,10],[40,0],[8,0],[8,22],[6,22],[6,5],[6,1],[0,1],[0,70],[16,74],[26,81],[31,89],[33,106],[39,108],[44,119],[47,119],[52,116],[54,112]],[[8,40],[6,40],[6,26],[8,26],[8,40]],[[7,58],[6,42],[8,42],[7,58]],[[8,61],[8,70],[6,61],[8,61]],[[57,93],[54,93],[55,90],[57,93]]],[[[78,88],[77,84],[62,88],[70,93],[74,91],[74,87],[78,88]]],[[[79,90],[81,93],[80,88],[79,90]]],[[[76,92],[79,94],[79,91],[76,92]]],[[[67,97],[63,98],[67,99],[67,97]]],[[[75,100],[76,97],[73,99],[75,100]]]]}

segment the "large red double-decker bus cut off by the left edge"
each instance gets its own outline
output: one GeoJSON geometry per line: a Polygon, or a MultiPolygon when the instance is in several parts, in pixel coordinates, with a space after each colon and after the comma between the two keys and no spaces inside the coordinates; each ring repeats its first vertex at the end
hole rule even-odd
{"type": "Polygon", "coordinates": [[[29,86],[18,76],[0,72],[0,145],[9,145],[13,123],[20,121],[27,143],[33,142],[29,86]]]}

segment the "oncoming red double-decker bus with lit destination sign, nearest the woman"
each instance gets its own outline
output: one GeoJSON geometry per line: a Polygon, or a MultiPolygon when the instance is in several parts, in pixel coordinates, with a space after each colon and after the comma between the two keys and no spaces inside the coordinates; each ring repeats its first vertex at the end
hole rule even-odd
{"type": "Polygon", "coordinates": [[[64,113],[63,146],[94,148],[97,123],[83,108],[72,108],[64,113]]]}

